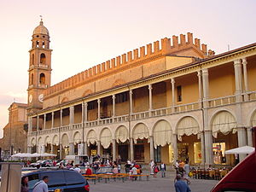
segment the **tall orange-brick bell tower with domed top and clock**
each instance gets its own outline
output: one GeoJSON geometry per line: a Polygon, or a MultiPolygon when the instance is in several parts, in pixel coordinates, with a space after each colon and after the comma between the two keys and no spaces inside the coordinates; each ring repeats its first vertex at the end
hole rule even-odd
{"type": "Polygon", "coordinates": [[[44,90],[50,86],[51,51],[49,32],[41,19],[32,34],[32,49],[29,50],[28,113],[43,108],[44,90]]]}

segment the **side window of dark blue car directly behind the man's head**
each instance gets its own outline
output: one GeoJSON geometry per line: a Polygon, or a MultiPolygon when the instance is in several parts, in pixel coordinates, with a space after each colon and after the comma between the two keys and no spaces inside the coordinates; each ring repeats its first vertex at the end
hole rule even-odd
{"type": "Polygon", "coordinates": [[[60,171],[57,171],[57,172],[41,172],[41,179],[44,176],[49,177],[49,182],[47,183],[49,187],[66,185],[66,180],[65,180],[63,172],[60,172],[60,171]]]}

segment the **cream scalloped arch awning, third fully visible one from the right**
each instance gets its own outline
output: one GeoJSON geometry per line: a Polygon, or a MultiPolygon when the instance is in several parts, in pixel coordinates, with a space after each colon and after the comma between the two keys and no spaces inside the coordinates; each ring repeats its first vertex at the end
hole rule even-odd
{"type": "Polygon", "coordinates": [[[165,120],[161,120],[154,127],[154,148],[157,146],[166,146],[172,143],[172,128],[171,125],[165,120]]]}

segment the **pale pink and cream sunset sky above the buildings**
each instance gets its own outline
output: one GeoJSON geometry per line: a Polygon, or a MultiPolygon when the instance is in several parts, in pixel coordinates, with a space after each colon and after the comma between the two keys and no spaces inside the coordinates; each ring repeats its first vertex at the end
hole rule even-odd
{"type": "Polygon", "coordinates": [[[8,108],[26,102],[33,29],[43,15],[52,84],[160,38],[193,32],[216,54],[256,42],[253,0],[0,0],[0,137],[8,108]]]}

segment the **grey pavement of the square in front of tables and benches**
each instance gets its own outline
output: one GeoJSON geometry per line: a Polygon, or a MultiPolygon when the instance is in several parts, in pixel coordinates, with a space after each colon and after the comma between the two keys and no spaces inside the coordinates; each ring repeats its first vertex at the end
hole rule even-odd
{"type": "MultiPolygon", "coordinates": [[[[148,172],[147,172],[148,173],[148,172]]],[[[150,176],[149,181],[146,177],[143,177],[143,181],[131,181],[126,180],[125,183],[122,181],[110,180],[108,183],[101,181],[100,183],[90,183],[90,192],[175,192],[174,189],[174,172],[166,172],[166,177],[154,178],[150,176]]],[[[143,172],[145,174],[145,172],[143,172]]],[[[204,179],[190,179],[191,183],[189,188],[192,192],[207,192],[218,183],[215,180],[204,180],[204,179]]]]}

